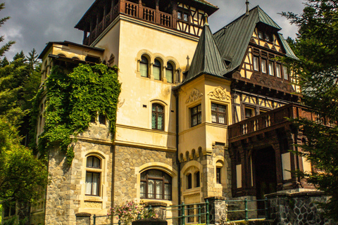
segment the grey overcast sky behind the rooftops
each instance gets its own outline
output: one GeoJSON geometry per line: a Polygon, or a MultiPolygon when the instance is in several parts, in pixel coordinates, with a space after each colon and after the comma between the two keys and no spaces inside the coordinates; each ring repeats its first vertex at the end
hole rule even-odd
{"type": "MultiPolygon", "coordinates": [[[[1,1],[1,0],[0,0],[1,1]]],[[[33,48],[38,53],[49,41],[74,41],[82,44],[82,32],[74,28],[94,0],[2,0],[6,8],[0,11],[0,18],[11,16],[1,28],[5,41],[16,41],[6,53],[9,59],[23,50],[25,55],[33,48]]],[[[161,0],[160,0],[161,1],[161,0]]],[[[250,8],[261,6],[275,22],[282,27],[285,38],[296,37],[297,27],[278,13],[291,11],[301,13],[303,0],[249,0],[250,8]]],[[[220,8],[209,17],[211,30],[216,32],[245,13],[245,0],[209,0],[220,8]]],[[[1,43],[3,44],[3,43],[1,43]]]]}

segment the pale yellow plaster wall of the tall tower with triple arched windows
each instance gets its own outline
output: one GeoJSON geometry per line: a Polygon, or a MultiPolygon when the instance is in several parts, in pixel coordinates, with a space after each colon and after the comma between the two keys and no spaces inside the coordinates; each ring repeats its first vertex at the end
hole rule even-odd
{"type": "MultiPolygon", "coordinates": [[[[158,58],[162,63],[161,72],[168,61],[175,64],[175,80],[182,80],[187,67],[187,56],[192,58],[198,39],[187,39],[158,27],[149,27],[129,18],[121,18],[96,46],[104,48],[104,60],[111,53],[118,65],[119,80],[122,83],[120,103],[116,122],[115,143],[175,150],[175,96],[174,84],[166,79],[141,77],[139,60],[143,54],[150,64],[158,58]],[[164,130],[151,129],[151,105],[160,103],[165,107],[164,130]]],[[[151,66],[150,66],[151,69],[151,66]]],[[[151,74],[152,70],[150,70],[151,74]]]]}

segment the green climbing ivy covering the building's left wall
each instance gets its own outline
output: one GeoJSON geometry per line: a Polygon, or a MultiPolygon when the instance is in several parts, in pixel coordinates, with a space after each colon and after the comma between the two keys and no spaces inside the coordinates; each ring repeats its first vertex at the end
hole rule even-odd
{"type": "MultiPolygon", "coordinates": [[[[76,141],[77,134],[88,129],[91,117],[96,113],[106,116],[114,136],[121,91],[117,70],[103,64],[79,65],[66,74],[63,68],[54,66],[45,83],[45,125],[44,132],[39,136],[40,153],[46,153],[46,149],[57,144],[70,164],[74,158],[71,143],[76,141]]],[[[38,95],[41,96],[41,93],[38,95]]],[[[37,101],[41,101],[39,98],[37,101]]],[[[37,117],[32,123],[37,123],[37,117]]]]}

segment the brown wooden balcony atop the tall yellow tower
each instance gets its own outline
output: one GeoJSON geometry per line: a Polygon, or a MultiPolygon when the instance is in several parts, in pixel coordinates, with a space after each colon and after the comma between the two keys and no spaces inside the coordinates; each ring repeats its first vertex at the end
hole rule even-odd
{"type": "Polygon", "coordinates": [[[103,19],[94,27],[89,36],[84,38],[83,44],[88,46],[92,44],[119,14],[128,15],[163,27],[176,29],[176,19],[173,15],[161,12],[158,9],[148,8],[142,4],[120,0],[107,15],[103,16],[103,19]]]}

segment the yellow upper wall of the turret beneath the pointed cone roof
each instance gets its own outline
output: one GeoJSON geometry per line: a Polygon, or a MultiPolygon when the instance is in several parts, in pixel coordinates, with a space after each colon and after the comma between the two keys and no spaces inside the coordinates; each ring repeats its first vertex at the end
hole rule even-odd
{"type": "Polygon", "coordinates": [[[201,148],[204,154],[211,153],[214,142],[227,143],[227,125],[211,122],[211,103],[227,107],[227,124],[232,124],[230,105],[230,82],[211,76],[201,76],[182,86],[179,93],[179,154],[192,154],[201,148]],[[224,91],[225,98],[217,98],[213,91],[224,91]],[[194,97],[196,96],[196,97],[194,97]],[[191,127],[190,109],[201,104],[202,121],[191,127]]]}

